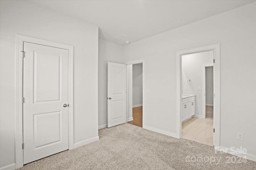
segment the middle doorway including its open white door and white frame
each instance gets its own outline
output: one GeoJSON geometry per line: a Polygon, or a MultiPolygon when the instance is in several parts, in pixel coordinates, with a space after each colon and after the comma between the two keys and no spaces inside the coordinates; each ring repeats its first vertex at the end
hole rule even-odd
{"type": "MultiPolygon", "coordinates": [[[[132,121],[132,110],[136,106],[133,105],[132,99],[132,66],[138,64],[138,67],[142,67],[142,90],[140,86],[140,92],[142,93],[142,125],[144,126],[144,59],[126,62],[124,64],[108,62],[108,86],[107,86],[107,127],[113,127],[122,123],[132,121]],[[141,63],[141,64],[139,64],[141,63]]],[[[136,65],[137,66],[137,65],[136,65]]],[[[136,91],[135,91],[136,92],[136,91]]],[[[137,98],[136,98],[137,99],[137,98]]],[[[139,100],[140,101],[140,100],[139,100]]],[[[141,102],[141,101],[140,101],[141,102]]],[[[140,111],[141,113],[141,111],[140,111]]]]}

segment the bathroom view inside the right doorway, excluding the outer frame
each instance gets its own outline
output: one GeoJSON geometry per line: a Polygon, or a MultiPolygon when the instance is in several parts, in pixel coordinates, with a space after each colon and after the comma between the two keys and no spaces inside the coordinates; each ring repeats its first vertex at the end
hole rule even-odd
{"type": "Polygon", "coordinates": [[[206,66],[213,67],[213,55],[213,51],[182,55],[182,138],[210,146],[213,146],[214,82],[213,68],[210,72],[206,66]],[[211,106],[205,106],[205,98],[211,106]],[[205,113],[212,119],[205,119],[205,113]]]}

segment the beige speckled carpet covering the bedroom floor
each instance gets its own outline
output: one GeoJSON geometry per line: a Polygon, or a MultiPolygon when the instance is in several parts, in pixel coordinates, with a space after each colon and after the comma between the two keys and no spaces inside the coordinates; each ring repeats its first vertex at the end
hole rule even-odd
{"type": "MultiPolygon", "coordinates": [[[[187,139],[176,139],[128,123],[100,129],[99,136],[99,141],[48,156],[26,164],[21,169],[256,169],[256,162],[247,160],[243,163],[226,163],[228,160],[226,156],[232,155],[223,152],[214,153],[214,147],[187,139]],[[219,163],[217,159],[220,160],[219,163]]],[[[236,156],[235,159],[239,160],[236,156]]]]}

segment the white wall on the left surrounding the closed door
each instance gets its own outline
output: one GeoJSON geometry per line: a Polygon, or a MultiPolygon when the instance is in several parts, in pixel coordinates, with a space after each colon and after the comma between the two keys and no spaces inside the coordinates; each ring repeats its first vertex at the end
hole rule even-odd
{"type": "Polygon", "coordinates": [[[33,2],[0,1],[0,167],[15,163],[16,34],[74,46],[74,143],[98,136],[98,27],[33,2]]]}

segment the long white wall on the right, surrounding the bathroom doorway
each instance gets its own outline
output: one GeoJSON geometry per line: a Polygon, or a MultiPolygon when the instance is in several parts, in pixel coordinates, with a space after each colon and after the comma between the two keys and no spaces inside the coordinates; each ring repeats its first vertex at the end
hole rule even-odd
{"type": "Polygon", "coordinates": [[[124,46],[124,62],[145,61],[147,127],[176,135],[176,52],[220,43],[220,145],[256,155],[255,11],[256,2],[124,46]]]}

